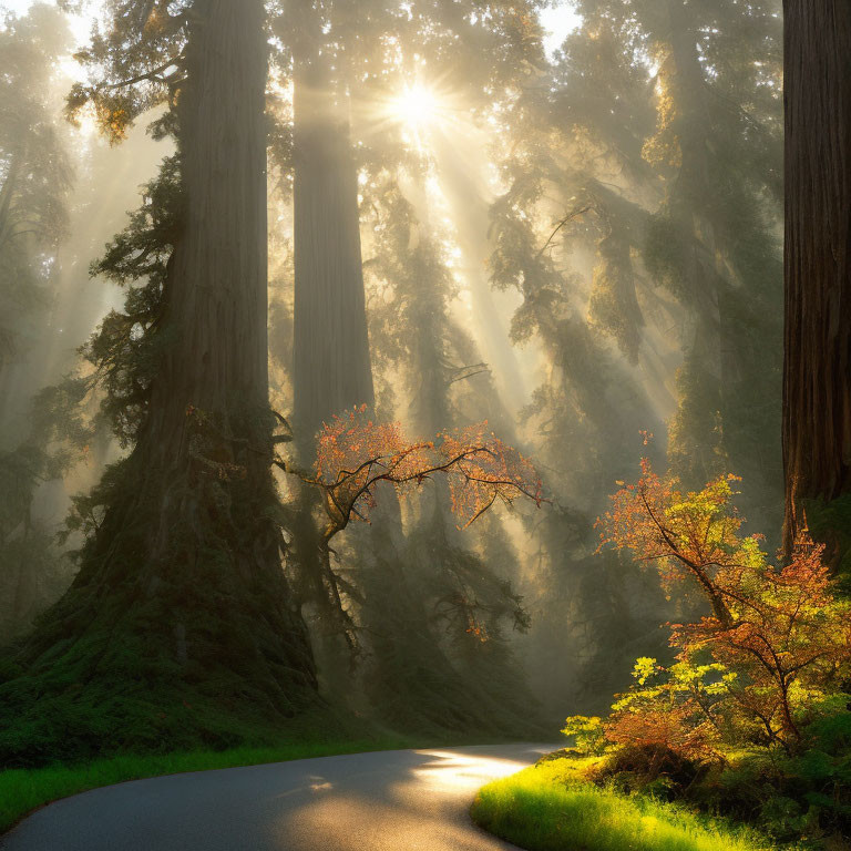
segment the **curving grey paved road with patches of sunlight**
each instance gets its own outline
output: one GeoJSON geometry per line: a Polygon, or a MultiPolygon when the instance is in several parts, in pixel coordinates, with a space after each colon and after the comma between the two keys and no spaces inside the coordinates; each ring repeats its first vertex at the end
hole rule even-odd
{"type": "Polygon", "coordinates": [[[134,780],[30,816],[0,851],[494,851],[475,790],[557,746],[322,757],[134,780]]]}

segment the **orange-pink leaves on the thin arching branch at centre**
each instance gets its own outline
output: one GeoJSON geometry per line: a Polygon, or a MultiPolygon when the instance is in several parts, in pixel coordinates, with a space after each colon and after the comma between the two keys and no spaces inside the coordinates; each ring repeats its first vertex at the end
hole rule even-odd
{"type": "Polygon", "coordinates": [[[326,423],[317,439],[316,479],[326,494],[331,521],[326,535],[345,529],[351,517],[367,520],[379,482],[399,495],[434,475],[449,482],[452,511],[469,526],[495,502],[517,496],[543,502],[532,464],[486,430],[486,423],[438,435],[437,441],[409,442],[399,423],[376,423],[366,406],[326,423]]]}

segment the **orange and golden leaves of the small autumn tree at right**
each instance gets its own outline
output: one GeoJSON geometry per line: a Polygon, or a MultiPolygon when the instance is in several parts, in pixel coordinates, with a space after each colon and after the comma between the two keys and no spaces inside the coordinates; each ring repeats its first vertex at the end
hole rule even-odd
{"type": "MultiPolygon", "coordinates": [[[[683,493],[676,479],[660,479],[645,459],[638,482],[612,496],[611,510],[597,521],[601,546],[657,563],[668,586],[675,578],[696,583],[712,616],[675,625],[670,643],[679,649],[680,673],[707,654],[712,670],[726,671],[721,684],[706,691],[711,701],[696,704],[704,719],[710,720],[711,703],[728,719],[747,719],[751,735],[758,730],[763,740],[790,749],[801,738],[809,704],[851,674],[851,605],[833,594],[822,546],[801,539],[792,561],[776,568],[759,536],[739,535],[736,481],[724,475],[701,491],[683,493]]],[[[674,695],[668,684],[639,711],[635,704],[629,711],[655,712],[658,699],[670,701],[674,695]]]]}

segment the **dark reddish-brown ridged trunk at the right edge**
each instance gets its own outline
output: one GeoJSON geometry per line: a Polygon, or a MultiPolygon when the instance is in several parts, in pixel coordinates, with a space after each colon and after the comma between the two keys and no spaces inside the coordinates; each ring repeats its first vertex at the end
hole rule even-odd
{"type": "Polygon", "coordinates": [[[803,500],[851,490],[851,4],[783,8],[788,550],[803,500]]]}

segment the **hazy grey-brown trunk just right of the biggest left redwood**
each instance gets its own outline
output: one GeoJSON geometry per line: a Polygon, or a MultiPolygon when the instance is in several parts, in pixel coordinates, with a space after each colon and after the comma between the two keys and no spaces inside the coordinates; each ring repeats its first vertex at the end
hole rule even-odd
{"type": "Polygon", "coordinates": [[[295,48],[295,424],[303,452],[322,421],[372,404],[357,172],[318,23],[295,48]]]}

